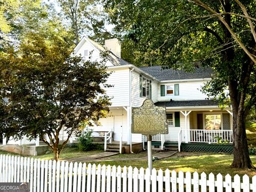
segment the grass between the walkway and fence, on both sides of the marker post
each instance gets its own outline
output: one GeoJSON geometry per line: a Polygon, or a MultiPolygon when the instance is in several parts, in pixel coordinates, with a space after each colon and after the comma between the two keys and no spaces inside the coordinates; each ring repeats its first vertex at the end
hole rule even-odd
{"type": "MultiPolygon", "coordinates": [[[[127,154],[119,155],[119,157],[125,157],[127,154]]],[[[134,157],[137,154],[132,154],[134,157]]],[[[140,155],[139,155],[140,156],[140,155]]],[[[154,155],[153,155],[154,156],[154,155]]],[[[126,158],[125,161],[119,161],[117,156],[115,158],[102,159],[102,161],[97,162],[99,164],[106,165],[120,165],[123,166],[132,166],[137,167],[147,167],[147,160],[134,160],[132,158],[126,158]],[[116,160],[115,160],[116,158],[116,160]]],[[[256,155],[251,155],[251,160],[254,165],[256,165],[256,155]]],[[[233,155],[229,154],[211,154],[211,153],[177,153],[172,157],[165,158],[162,160],[154,161],[153,167],[155,169],[162,170],[175,170],[177,172],[195,172],[198,173],[205,172],[206,174],[213,173],[217,175],[221,173],[222,175],[230,174],[234,176],[247,174],[249,177],[253,177],[256,175],[255,170],[244,170],[244,169],[236,169],[231,168],[230,165],[233,161],[233,155]]],[[[95,163],[95,162],[90,162],[95,163]]]]}

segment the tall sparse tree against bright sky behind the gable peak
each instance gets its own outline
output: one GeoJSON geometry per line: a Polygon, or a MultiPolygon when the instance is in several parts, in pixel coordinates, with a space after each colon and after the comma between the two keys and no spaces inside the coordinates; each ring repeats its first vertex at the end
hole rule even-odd
{"type": "Polygon", "coordinates": [[[100,39],[111,34],[105,28],[106,13],[101,10],[100,1],[90,0],[57,0],[62,14],[69,21],[70,31],[77,45],[82,35],[100,39]]]}

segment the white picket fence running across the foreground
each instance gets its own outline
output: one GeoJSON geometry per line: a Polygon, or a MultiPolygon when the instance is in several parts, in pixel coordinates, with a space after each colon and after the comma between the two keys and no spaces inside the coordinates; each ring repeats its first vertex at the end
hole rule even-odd
{"type": "Polygon", "coordinates": [[[152,170],[130,167],[85,163],[56,162],[0,155],[0,182],[29,182],[30,191],[68,192],[68,191],[172,191],[172,192],[256,192],[256,175],[242,179],[229,174],[205,173],[199,177],[197,172],[170,172],[168,169],[152,170]]]}

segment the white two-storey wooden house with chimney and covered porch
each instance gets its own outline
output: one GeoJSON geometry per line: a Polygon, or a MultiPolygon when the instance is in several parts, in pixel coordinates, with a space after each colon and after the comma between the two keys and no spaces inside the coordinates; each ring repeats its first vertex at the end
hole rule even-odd
{"type": "MultiPolygon", "coordinates": [[[[122,138],[132,151],[132,143],[144,143],[145,137],[131,133],[131,111],[149,98],[156,106],[166,107],[169,134],[153,137],[153,141],[161,143],[162,149],[165,142],[178,142],[179,147],[182,142],[214,143],[219,138],[232,142],[231,108],[221,110],[217,102],[207,100],[201,92],[204,83],[211,81],[211,69],[199,67],[194,73],[185,73],[161,66],[136,67],[121,59],[117,39],[107,40],[105,47],[109,50],[107,71],[113,72],[107,82],[113,87],[106,91],[113,99],[107,118],[100,119],[101,126],[92,127],[95,132],[113,133],[114,141],[122,138]]],[[[74,54],[100,61],[105,47],[83,37],[74,54]]]]}

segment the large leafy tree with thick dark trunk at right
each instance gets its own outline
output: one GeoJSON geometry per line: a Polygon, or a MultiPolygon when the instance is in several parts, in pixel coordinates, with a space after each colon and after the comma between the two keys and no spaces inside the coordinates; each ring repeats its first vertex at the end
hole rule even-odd
{"type": "Polygon", "coordinates": [[[134,63],[214,69],[204,91],[233,107],[233,167],[253,167],[245,119],[256,101],[255,6],[246,0],[105,1],[116,31],[134,50],[134,63]]]}

